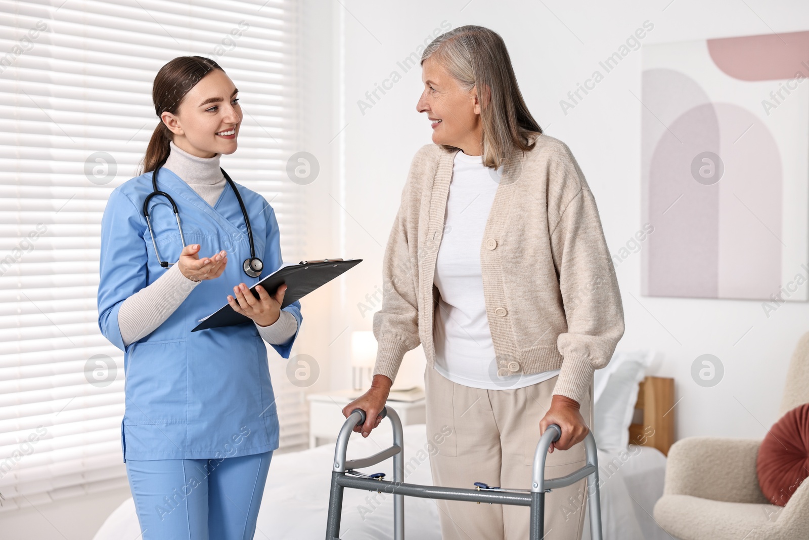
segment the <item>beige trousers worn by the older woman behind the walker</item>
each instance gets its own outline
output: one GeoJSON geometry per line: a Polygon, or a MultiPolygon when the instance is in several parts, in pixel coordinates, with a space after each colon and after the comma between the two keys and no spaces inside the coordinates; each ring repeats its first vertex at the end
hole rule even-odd
{"type": "MultiPolygon", "coordinates": [[[[485,390],[448,380],[429,366],[425,372],[427,436],[443,437],[430,453],[436,486],[529,489],[540,419],[548,411],[558,376],[520,389],[485,390]],[[449,435],[447,435],[449,433],[449,435]],[[433,455],[435,454],[435,455],[433,455]]],[[[592,382],[581,404],[591,427],[592,382]]],[[[585,465],[584,443],[553,450],[545,478],[559,478],[585,465]]],[[[581,540],[587,479],[545,494],[544,540],[581,540]]],[[[443,540],[526,540],[527,506],[436,500],[443,540]]]]}

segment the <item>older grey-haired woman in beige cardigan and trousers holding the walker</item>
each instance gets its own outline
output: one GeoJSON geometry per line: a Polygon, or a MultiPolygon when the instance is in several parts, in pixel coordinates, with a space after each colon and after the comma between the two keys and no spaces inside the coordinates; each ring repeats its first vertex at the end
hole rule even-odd
{"type": "MultiPolygon", "coordinates": [[[[528,489],[551,423],[546,478],[585,463],[593,372],[624,334],[612,258],[582,170],[528,112],[502,38],[455,28],[421,67],[434,144],[413,158],[385,249],[371,389],[343,412],[366,410],[368,436],[421,343],[435,485],[528,489]]],[[[585,482],[546,496],[544,538],[581,538],[585,482]]],[[[436,502],[447,540],[528,536],[527,507],[436,502]]]]}

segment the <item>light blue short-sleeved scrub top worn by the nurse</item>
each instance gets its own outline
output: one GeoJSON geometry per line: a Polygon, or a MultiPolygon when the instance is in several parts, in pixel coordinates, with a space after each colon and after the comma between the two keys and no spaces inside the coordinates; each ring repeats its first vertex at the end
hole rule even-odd
{"type": "MultiPolygon", "coordinates": [[[[194,287],[151,334],[125,347],[118,327],[121,303],[167,271],[157,260],[143,216],[151,176],[146,172],[114,189],[101,220],[99,328],[124,351],[124,461],[210,459],[277,449],[275,394],[256,325],[191,332],[199,319],[227,304],[235,285],[251,287],[282,265],[275,212],[259,193],[236,184],[250,216],[256,257],[264,261],[260,277],[251,279],[242,270],[250,257],[247,226],[230,185],[212,207],[174,172],[161,168],[158,189],[169,193],[180,211],[185,244],[200,244],[200,257],[225,249],[227,266],[218,278],[194,287]]],[[[149,206],[160,257],[173,263],[183,246],[172,206],[160,196],[149,206]]],[[[155,308],[165,309],[166,300],[155,308]]],[[[300,303],[284,311],[294,315],[300,329],[300,303]]],[[[273,348],[289,358],[297,337],[296,331],[273,348]]]]}

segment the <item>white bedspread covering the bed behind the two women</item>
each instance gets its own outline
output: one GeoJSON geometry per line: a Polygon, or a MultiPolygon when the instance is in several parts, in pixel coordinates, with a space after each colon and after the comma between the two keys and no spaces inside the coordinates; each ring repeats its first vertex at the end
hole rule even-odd
{"type": "MultiPolygon", "coordinates": [[[[391,444],[389,424],[377,428],[362,439],[353,434],[349,458],[366,457],[391,444]],[[383,428],[383,426],[385,428],[383,428]]],[[[273,456],[269,477],[256,520],[256,540],[322,540],[328,510],[333,444],[302,452],[273,456]]],[[[404,427],[404,456],[413,461],[405,482],[431,484],[424,424],[404,427]]],[[[630,447],[623,455],[599,451],[602,474],[601,508],[605,540],[670,540],[654,524],[654,503],[663,494],[666,457],[656,449],[630,447]],[[612,465],[608,467],[608,464],[612,465]]],[[[365,472],[384,472],[392,479],[392,461],[388,460],[365,472]]],[[[385,493],[346,489],[340,538],[379,540],[392,538],[393,497],[385,493]]],[[[439,540],[438,509],[433,500],[404,499],[406,538],[439,540]]],[[[140,529],[133,500],[126,500],[104,522],[94,540],[138,538],[140,529]]],[[[584,539],[590,538],[585,521],[584,539]]]]}

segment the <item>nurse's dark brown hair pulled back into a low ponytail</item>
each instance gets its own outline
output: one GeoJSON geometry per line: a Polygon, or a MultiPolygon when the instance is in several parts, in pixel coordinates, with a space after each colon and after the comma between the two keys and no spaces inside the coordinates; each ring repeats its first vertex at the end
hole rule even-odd
{"type": "MultiPolygon", "coordinates": [[[[157,116],[160,117],[164,112],[176,114],[188,91],[212,70],[224,72],[216,62],[201,56],[176,57],[161,67],[152,85],[152,101],[155,103],[157,116]]],[[[168,143],[172,142],[173,136],[161,119],[149,139],[138,174],[154,171],[166,162],[170,151],[168,143]]]]}

